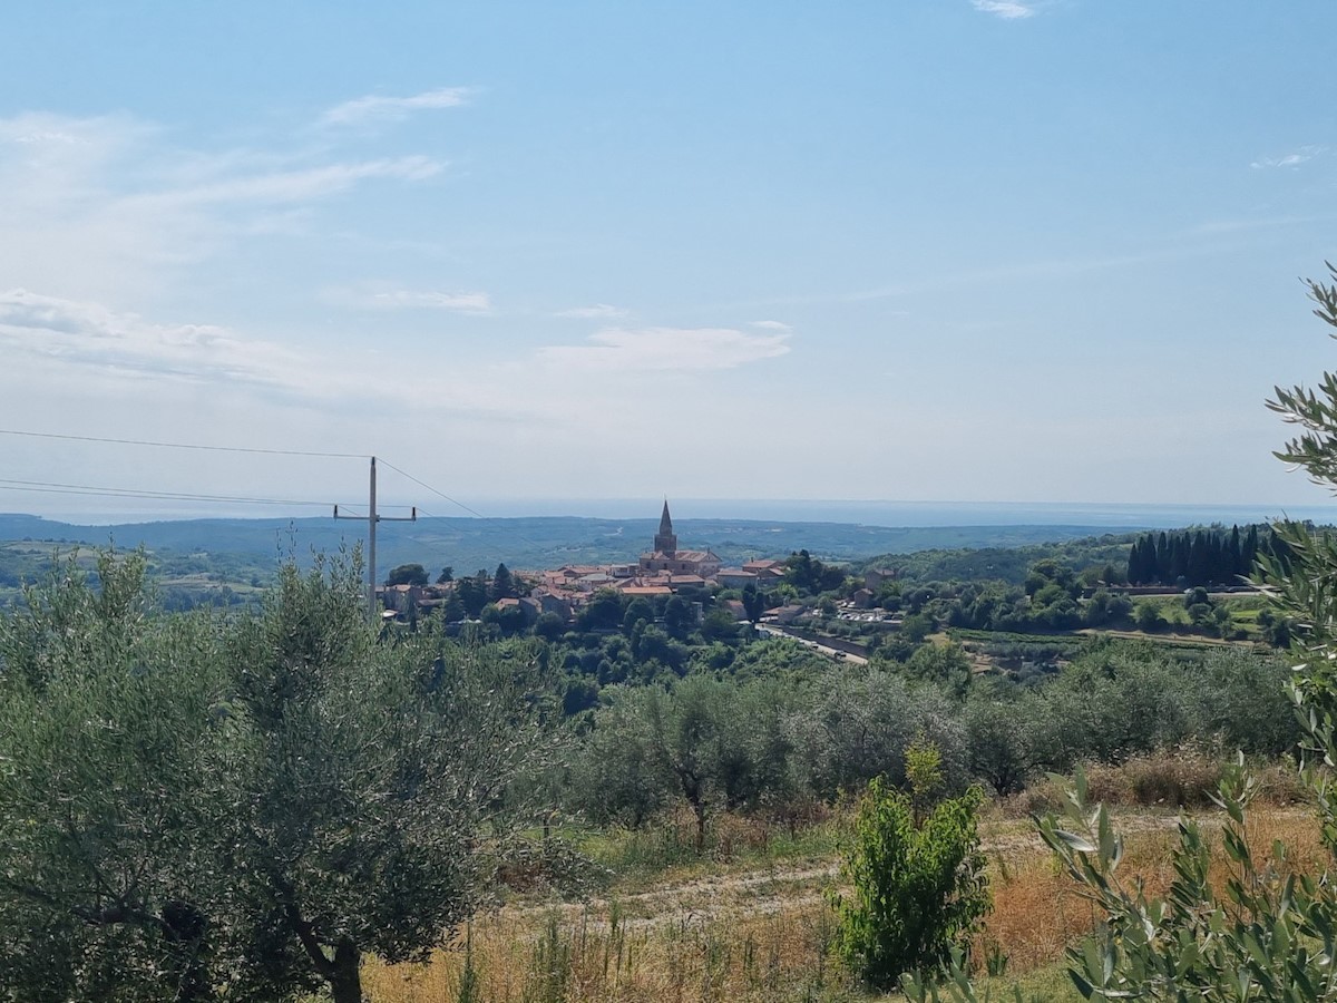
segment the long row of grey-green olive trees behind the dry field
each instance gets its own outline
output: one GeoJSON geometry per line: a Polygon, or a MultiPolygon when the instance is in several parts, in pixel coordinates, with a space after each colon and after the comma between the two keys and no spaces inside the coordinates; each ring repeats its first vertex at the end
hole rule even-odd
{"type": "Polygon", "coordinates": [[[753,646],[769,651],[773,671],[698,671],[667,686],[606,690],[580,722],[571,806],[598,824],[635,828],[686,804],[701,848],[726,809],[783,813],[874,777],[904,788],[917,741],[941,752],[948,793],[981,781],[1009,794],[1080,762],[1191,744],[1278,756],[1298,736],[1285,665],[1251,653],[1182,662],[1144,645],[1100,642],[1058,674],[1019,685],[969,682],[969,663],[952,647],[868,667],[804,662],[797,647],[753,646]],[[778,669],[786,650],[796,658],[789,671],[778,669]]]}

